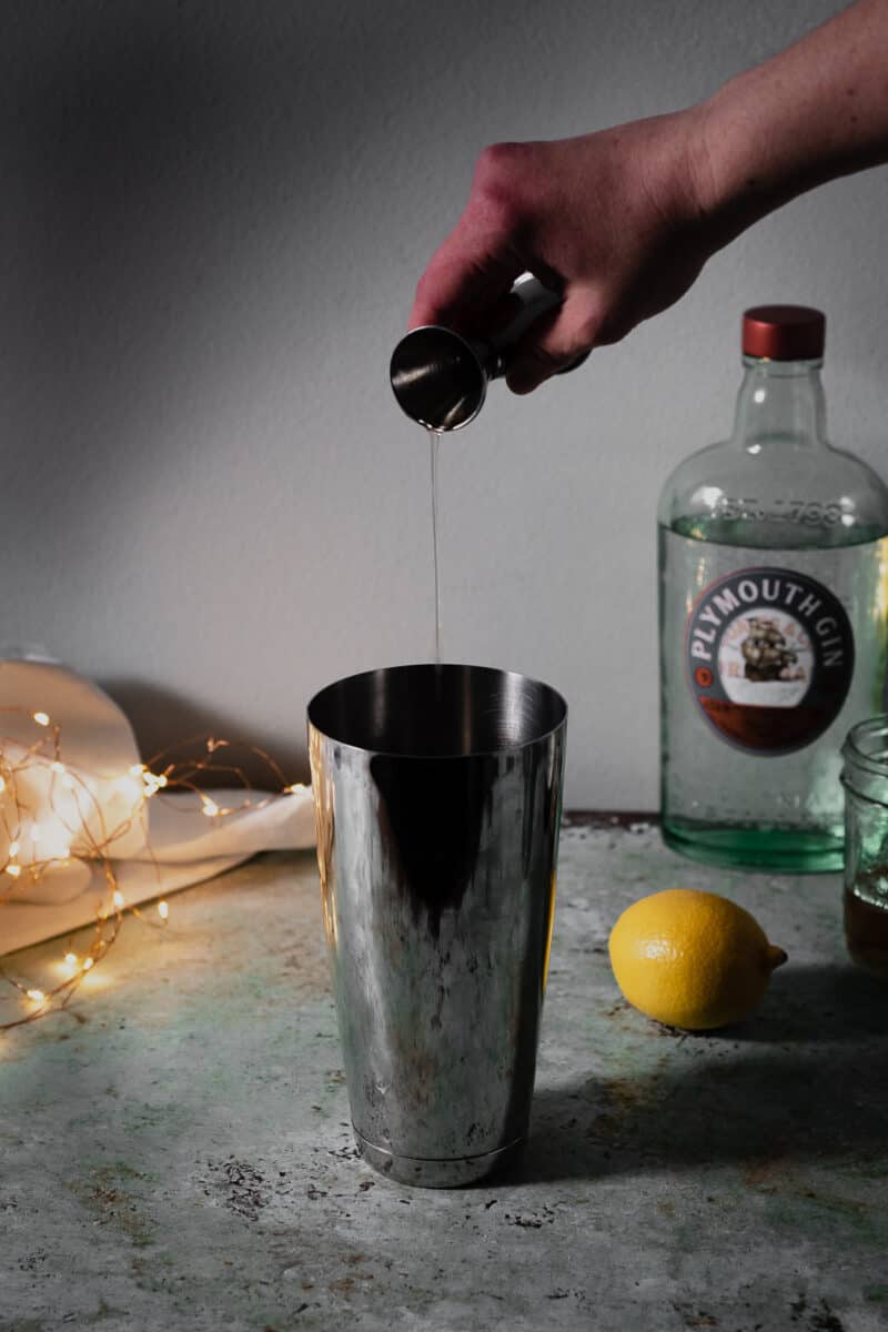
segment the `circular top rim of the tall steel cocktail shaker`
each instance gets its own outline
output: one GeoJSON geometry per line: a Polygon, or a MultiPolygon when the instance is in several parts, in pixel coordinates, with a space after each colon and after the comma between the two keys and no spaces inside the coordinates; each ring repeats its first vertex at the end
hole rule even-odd
{"type": "MultiPolygon", "coordinates": [[[[330,706],[330,711],[332,711],[330,706]]],[[[351,675],[343,675],[341,679],[332,681],[320,689],[310,699],[306,706],[306,717],[310,731],[317,731],[325,739],[333,741],[335,745],[341,745],[343,749],[353,750],[358,754],[379,755],[381,758],[393,759],[413,759],[415,762],[430,762],[439,763],[442,761],[458,761],[458,759],[478,759],[478,758],[493,758],[503,754],[519,754],[522,750],[530,749],[534,745],[539,745],[547,741],[550,737],[555,735],[558,731],[563,730],[567,723],[567,701],[564,695],[556,690],[553,685],[547,685],[546,681],[538,679],[534,675],[526,675],[522,671],[503,670],[499,666],[474,666],[466,662],[407,662],[398,666],[378,666],[373,670],[355,671],[351,675]],[[469,673],[470,675],[478,675],[481,678],[498,677],[501,681],[513,681],[515,686],[521,686],[526,690],[538,690],[542,697],[547,699],[549,707],[551,710],[551,717],[547,719],[547,725],[539,725],[534,727],[533,734],[527,735],[526,739],[521,741],[506,741],[495,745],[485,745],[481,747],[470,749],[447,749],[438,750],[434,753],[423,753],[422,750],[411,750],[397,746],[386,745],[361,745],[355,743],[354,739],[349,739],[342,734],[342,727],[330,725],[330,717],[321,718],[318,713],[324,710],[325,705],[330,706],[333,701],[334,691],[341,691],[347,687],[355,687],[359,681],[370,681],[371,677],[383,675],[397,675],[403,673],[405,675],[413,673],[427,674],[430,671],[461,671],[469,673]],[[337,734],[338,733],[338,734],[337,734]]],[[[542,719],[541,719],[542,721],[542,719]]]]}

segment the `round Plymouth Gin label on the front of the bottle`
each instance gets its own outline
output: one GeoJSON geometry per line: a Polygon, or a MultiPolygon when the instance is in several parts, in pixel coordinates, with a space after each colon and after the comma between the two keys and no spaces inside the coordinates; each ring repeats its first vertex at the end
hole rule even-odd
{"type": "Polygon", "coordinates": [[[789,754],[837,717],[855,643],[841,602],[823,583],[792,569],[740,569],[698,597],[684,662],[694,698],[722,739],[789,754]]]}

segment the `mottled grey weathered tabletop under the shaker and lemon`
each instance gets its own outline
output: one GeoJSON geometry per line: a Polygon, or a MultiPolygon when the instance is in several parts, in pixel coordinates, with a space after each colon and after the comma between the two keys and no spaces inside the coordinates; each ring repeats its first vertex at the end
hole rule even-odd
{"type": "Polygon", "coordinates": [[[351,1146],[313,858],[266,858],[165,934],[128,922],[72,1015],[0,1042],[0,1329],[885,1328],[887,1018],[835,878],[575,826],[521,1175],[409,1191],[351,1146]],[[676,884],[789,952],[742,1028],[619,998],[611,924],[676,884]]]}

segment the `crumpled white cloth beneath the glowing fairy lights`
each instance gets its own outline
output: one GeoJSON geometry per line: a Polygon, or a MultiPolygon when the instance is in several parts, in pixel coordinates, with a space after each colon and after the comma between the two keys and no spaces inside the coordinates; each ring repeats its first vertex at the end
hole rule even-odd
{"type": "Polygon", "coordinates": [[[220,810],[233,810],[216,818],[194,791],[146,798],[120,707],[55,662],[0,661],[0,867],[20,867],[17,876],[0,872],[0,955],[111,907],[97,847],[107,847],[125,904],[137,906],[257,851],[314,844],[308,787],[206,791],[220,810]]]}

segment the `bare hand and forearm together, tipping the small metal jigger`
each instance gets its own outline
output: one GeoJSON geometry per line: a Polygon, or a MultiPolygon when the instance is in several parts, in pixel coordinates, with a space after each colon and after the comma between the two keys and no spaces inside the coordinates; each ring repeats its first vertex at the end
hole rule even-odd
{"type": "Polygon", "coordinates": [[[553,143],[497,144],[410,316],[483,329],[525,269],[558,282],[518,393],[676,301],[707,258],[813,185],[888,161],[888,0],[857,0],[714,97],[553,143]]]}

